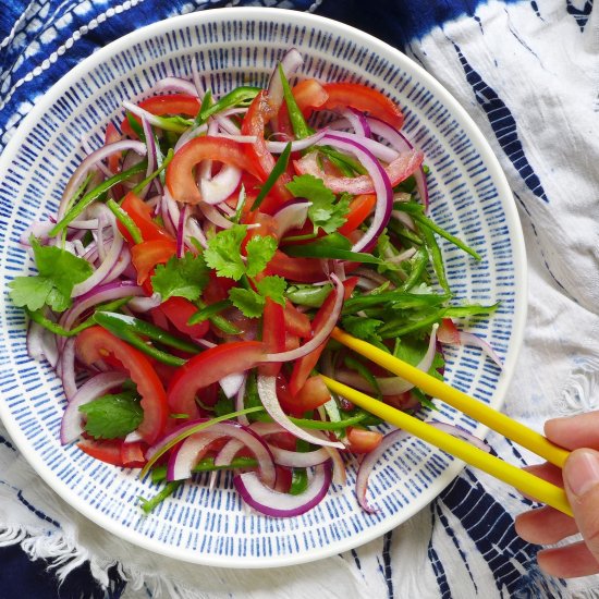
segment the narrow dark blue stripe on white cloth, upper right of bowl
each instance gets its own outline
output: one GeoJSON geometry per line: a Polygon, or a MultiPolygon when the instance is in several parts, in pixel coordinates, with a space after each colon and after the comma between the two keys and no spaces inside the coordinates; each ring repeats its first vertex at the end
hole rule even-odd
{"type": "Polygon", "coordinates": [[[526,158],[514,115],[497,91],[473,69],[460,47],[455,42],[453,47],[464,69],[466,81],[474,91],[476,101],[487,114],[499,145],[524,180],[526,186],[537,197],[549,203],[537,173],[526,158]]]}

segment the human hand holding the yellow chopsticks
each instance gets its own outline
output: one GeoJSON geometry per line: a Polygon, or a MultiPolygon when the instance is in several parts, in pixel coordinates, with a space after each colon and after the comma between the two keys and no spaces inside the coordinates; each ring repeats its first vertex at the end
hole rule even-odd
{"type": "Polygon", "coordinates": [[[539,508],[516,517],[516,533],[538,545],[552,545],[580,533],[584,541],[539,551],[539,566],[560,578],[599,573],[599,412],[548,420],[545,433],[573,450],[563,470],[551,464],[526,469],[565,488],[574,518],[553,508],[539,508]]]}

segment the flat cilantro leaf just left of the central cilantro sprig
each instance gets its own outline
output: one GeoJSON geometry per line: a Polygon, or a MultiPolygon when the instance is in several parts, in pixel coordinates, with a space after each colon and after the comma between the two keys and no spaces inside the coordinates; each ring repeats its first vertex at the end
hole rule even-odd
{"type": "Polygon", "coordinates": [[[200,255],[187,252],[183,258],[172,257],[166,265],[158,265],[151,277],[154,291],[162,302],[176,295],[194,302],[209,281],[208,267],[200,255]]]}

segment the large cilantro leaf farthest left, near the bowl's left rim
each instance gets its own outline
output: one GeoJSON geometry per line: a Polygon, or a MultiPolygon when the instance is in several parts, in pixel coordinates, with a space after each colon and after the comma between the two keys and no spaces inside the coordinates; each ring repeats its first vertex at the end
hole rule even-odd
{"type": "Polygon", "coordinates": [[[41,245],[30,240],[38,274],[15,277],[10,283],[11,300],[16,306],[36,311],[49,305],[56,311],[64,311],[71,305],[73,286],[85,281],[94,271],[91,265],[66,249],[41,245]]]}

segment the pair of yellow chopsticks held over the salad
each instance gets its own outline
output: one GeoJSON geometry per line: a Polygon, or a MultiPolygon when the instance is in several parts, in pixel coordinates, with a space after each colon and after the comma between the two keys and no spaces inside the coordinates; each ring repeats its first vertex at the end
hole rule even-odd
{"type": "MultiPolygon", "coordinates": [[[[374,363],[387,368],[391,372],[414,383],[429,395],[444,401],[447,404],[455,407],[460,412],[467,414],[475,420],[488,426],[508,439],[515,441],[519,445],[533,451],[540,457],[543,457],[551,464],[562,468],[569,453],[549,441],[542,435],[529,429],[525,425],[513,420],[505,414],[502,414],[492,407],[470,398],[466,393],[450,387],[445,382],[438,380],[430,375],[423,372],[418,368],[396,358],[395,356],[370,345],[366,341],[356,339],[339,328],[335,328],[332,338],[354,350],[356,353],[367,357],[374,363]]],[[[457,439],[447,432],[443,432],[426,423],[396,409],[379,400],[370,398],[356,389],[347,387],[329,377],[322,376],[327,387],[346,398],[355,405],[367,412],[403,428],[423,441],[435,445],[447,453],[466,462],[467,464],[479,468],[499,480],[508,482],[512,487],[521,490],[527,496],[551,505],[552,508],[572,516],[572,508],[567,501],[565,491],[560,487],[543,480],[528,472],[525,472],[503,460],[496,457],[476,447],[457,439]]]]}

